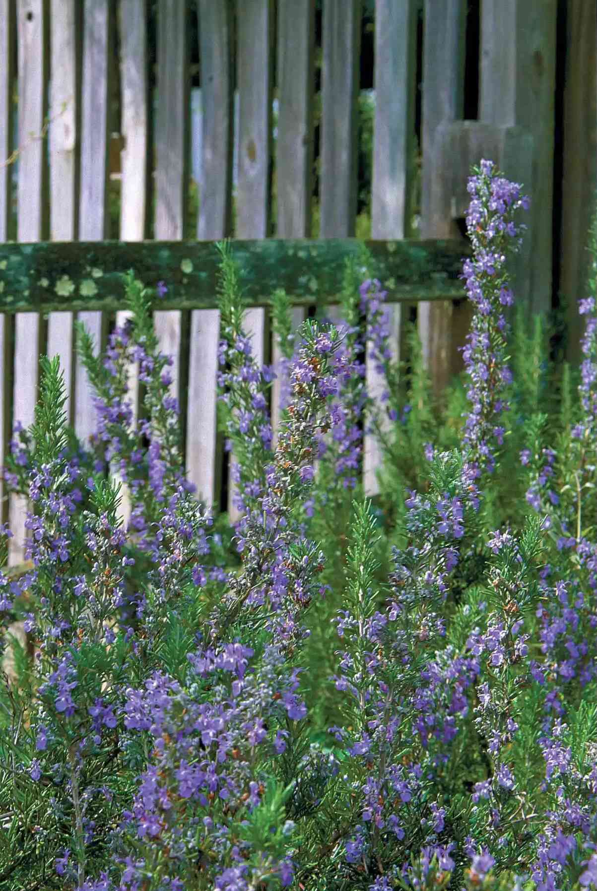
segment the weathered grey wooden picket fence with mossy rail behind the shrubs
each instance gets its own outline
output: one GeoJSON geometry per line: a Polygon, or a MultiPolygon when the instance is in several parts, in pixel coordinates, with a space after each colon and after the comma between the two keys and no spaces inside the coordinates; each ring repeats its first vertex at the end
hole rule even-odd
{"type": "MultiPolygon", "coordinates": [[[[491,157],[533,195],[526,253],[516,271],[519,296],[532,310],[552,306],[554,219],[561,221],[556,232],[560,282],[573,302],[580,293],[595,185],[594,0],[483,0],[474,121],[462,120],[466,12],[466,0],[374,4],[371,234],[379,243],[373,249],[380,269],[395,280],[390,290],[397,301],[396,348],[403,318],[400,300],[419,301],[423,352],[438,388],[454,369],[456,347],[468,323],[465,304],[455,299],[454,251],[460,256],[465,250],[457,220],[467,202],[470,164],[491,157]],[[562,21],[563,33],[557,32],[562,21]],[[412,200],[418,158],[413,144],[418,33],[417,233],[412,200]],[[564,45],[560,54],[556,40],[564,45]],[[557,59],[564,60],[565,68],[560,61],[559,112],[554,107],[557,59]],[[563,147],[554,154],[556,112],[563,147]],[[563,189],[554,181],[554,159],[560,159],[556,174],[563,189]],[[413,235],[427,240],[419,254],[413,242],[405,242],[406,253],[399,249],[401,240],[413,235]],[[435,239],[453,243],[444,251],[428,243],[435,239]],[[454,239],[461,239],[455,247],[454,239]],[[402,279],[398,257],[406,267],[402,279]],[[416,257],[411,266],[409,257],[416,257]],[[409,275],[414,277],[409,280],[409,275]],[[401,291],[406,285],[410,290],[401,291]]],[[[232,0],[156,0],[151,10],[146,0],[0,0],[0,242],[26,242],[0,250],[0,462],[13,421],[32,420],[40,353],[61,356],[70,418],[80,436],[92,431],[93,404],[73,355],[73,317],[83,319],[102,343],[114,316],[122,318],[114,273],[135,266],[148,284],[164,279],[170,288],[166,302],[156,309],[155,323],[162,347],[175,357],[173,387],[183,405],[187,469],[200,494],[217,502],[218,314],[213,248],[209,253],[200,242],[226,235],[260,240],[273,234],[297,240],[313,233],[319,102],[319,239],[355,235],[362,15],[361,0],[239,0],[236,5],[232,0]],[[321,45],[316,46],[320,7],[321,45]],[[192,232],[191,33],[198,34],[202,110],[200,205],[192,232]],[[316,95],[318,53],[321,93],[316,95]],[[103,242],[110,234],[110,134],[117,125],[122,146],[120,242],[94,248],[89,242],[103,242]],[[168,244],[121,243],[143,242],[150,235],[168,244]],[[173,243],[184,239],[180,246],[173,243]],[[39,248],[29,243],[40,241],[47,243],[39,248]],[[50,243],[54,241],[85,243],[67,247],[50,243]]],[[[307,302],[333,303],[337,285],[326,274],[326,264],[338,270],[339,259],[354,249],[350,241],[331,241],[328,248],[323,241],[304,247],[292,241],[279,247],[277,255],[274,248],[267,254],[275,275],[268,267],[266,276],[255,264],[264,260],[267,243],[243,255],[259,280],[247,327],[263,360],[275,359],[276,353],[268,333],[266,286],[288,286],[298,304],[298,323],[307,302]],[[290,256],[285,270],[282,258],[285,263],[290,256]]],[[[573,350],[578,339],[574,319],[573,307],[573,350]]],[[[368,377],[372,392],[379,393],[372,370],[368,377]]],[[[370,444],[365,467],[369,485],[376,461],[370,444]]],[[[23,505],[13,500],[10,513],[19,538],[23,505]]]]}

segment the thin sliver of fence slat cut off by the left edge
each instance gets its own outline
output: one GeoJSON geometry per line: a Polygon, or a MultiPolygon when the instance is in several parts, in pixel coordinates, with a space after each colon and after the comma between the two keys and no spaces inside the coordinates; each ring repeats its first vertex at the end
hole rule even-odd
{"type": "MultiPolygon", "coordinates": [[[[0,0],[0,241],[7,241],[11,220],[11,165],[12,151],[12,86],[14,78],[13,31],[14,0],[0,0]]],[[[0,277],[0,281],[1,281],[0,277]]],[[[11,437],[12,422],[12,350],[10,341],[14,319],[0,314],[0,466],[4,464],[11,437]]],[[[8,519],[8,501],[4,495],[4,481],[0,474],[0,522],[8,519]]]]}

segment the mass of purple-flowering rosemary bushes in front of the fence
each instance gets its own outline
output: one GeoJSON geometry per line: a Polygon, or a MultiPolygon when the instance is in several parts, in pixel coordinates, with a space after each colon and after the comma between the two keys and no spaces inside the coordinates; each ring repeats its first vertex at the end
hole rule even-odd
{"type": "Polygon", "coordinates": [[[44,360],[4,471],[31,510],[29,563],[0,576],[0,608],[31,650],[4,639],[0,887],[597,887],[595,281],[579,398],[566,371],[549,415],[541,331],[512,359],[527,386],[506,364],[506,258],[527,200],[489,161],[469,190],[462,421],[435,443],[425,376],[391,358],[366,257],[347,269],[344,325],[292,338],[276,295],[274,441],[276,371],[252,356],[222,247],[227,537],[184,477],[168,357],[132,274],[132,318],[105,353],[79,331],[89,443],[66,428],[44,360]],[[365,349],[388,383],[380,405],[365,349]],[[366,432],[395,484],[375,503],[359,482],[366,432]]]}

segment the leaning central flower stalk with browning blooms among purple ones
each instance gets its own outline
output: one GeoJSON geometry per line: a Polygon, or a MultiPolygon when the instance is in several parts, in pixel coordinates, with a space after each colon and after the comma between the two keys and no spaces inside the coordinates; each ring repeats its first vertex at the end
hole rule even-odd
{"type": "MultiPolygon", "coordinates": [[[[333,425],[329,397],[350,374],[346,356],[337,355],[337,331],[320,332],[307,322],[301,339],[290,370],[293,399],[287,420],[282,422],[274,460],[263,470],[266,492],[243,519],[238,543],[242,571],[231,578],[222,600],[228,624],[241,609],[271,611],[266,626],[290,649],[304,634],[295,616],[318,591],[314,574],[323,569],[322,555],[299,533],[293,514],[315,476],[316,439],[333,425]]],[[[212,634],[219,634],[220,619],[213,621],[212,634]]]]}

